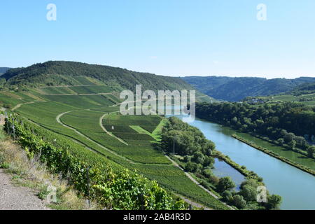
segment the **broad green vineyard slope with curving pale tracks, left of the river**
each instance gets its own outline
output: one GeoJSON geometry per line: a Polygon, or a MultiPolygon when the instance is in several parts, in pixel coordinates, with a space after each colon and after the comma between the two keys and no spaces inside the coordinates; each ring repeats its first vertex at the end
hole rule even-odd
{"type": "Polygon", "coordinates": [[[113,169],[137,170],[164,188],[206,207],[228,209],[155,149],[165,118],[120,116],[116,113],[120,100],[116,94],[109,93],[115,88],[92,86],[89,82],[85,82],[88,87],[32,88],[29,93],[34,98],[20,93],[22,99],[14,104],[22,106],[15,112],[40,125],[49,141],[57,139],[57,144],[69,144],[69,152],[88,163],[101,162],[111,164],[113,169]],[[24,104],[27,102],[34,103],[24,104]]]}

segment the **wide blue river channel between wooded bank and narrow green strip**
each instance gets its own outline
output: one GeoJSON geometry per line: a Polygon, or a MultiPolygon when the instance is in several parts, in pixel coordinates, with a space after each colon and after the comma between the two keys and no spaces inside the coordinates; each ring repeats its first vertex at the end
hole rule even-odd
{"type": "MultiPolygon", "coordinates": [[[[281,209],[315,209],[314,176],[232,138],[230,135],[235,131],[228,127],[197,118],[190,125],[199,128],[207,139],[214,141],[218,151],[261,176],[269,193],[281,195],[281,209]]],[[[221,169],[222,174],[227,172],[226,165],[223,167],[216,166],[216,169],[221,169]]],[[[235,180],[235,177],[232,179],[235,180]]]]}

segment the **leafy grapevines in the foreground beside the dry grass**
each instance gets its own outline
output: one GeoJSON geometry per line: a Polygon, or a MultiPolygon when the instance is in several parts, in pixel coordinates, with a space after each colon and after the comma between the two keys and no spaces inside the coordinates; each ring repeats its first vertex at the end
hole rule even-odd
{"type": "Polygon", "coordinates": [[[69,152],[69,148],[73,147],[72,144],[59,138],[60,143],[49,143],[49,140],[54,141],[43,140],[43,137],[54,137],[54,134],[45,133],[41,128],[17,119],[16,117],[6,119],[5,130],[18,139],[18,143],[25,148],[29,158],[39,155],[41,162],[45,162],[51,172],[62,174],[78,192],[98,202],[102,207],[106,209],[185,208],[181,200],[169,195],[155,181],[148,181],[143,176],[127,170],[113,172],[110,163],[107,163],[107,166],[104,166],[101,160],[95,163],[92,154],[82,157],[77,153],[73,156],[69,152]]]}

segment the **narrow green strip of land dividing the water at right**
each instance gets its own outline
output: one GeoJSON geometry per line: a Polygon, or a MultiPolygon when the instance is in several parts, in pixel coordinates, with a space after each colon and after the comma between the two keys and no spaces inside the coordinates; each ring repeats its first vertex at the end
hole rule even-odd
{"type": "Polygon", "coordinates": [[[308,167],[305,167],[303,165],[298,164],[297,162],[293,162],[292,160],[288,160],[288,158],[284,158],[283,156],[280,156],[272,151],[269,151],[267,148],[263,148],[262,146],[258,146],[254,144],[252,141],[248,141],[242,137],[239,137],[237,134],[232,134],[231,137],[243,142],[244,144],[247,144],[248,146],[251,146],[255,149],[258,149],[259,151],[262,151],[263,153],[266,153],[278,160],[281,160],[282,162],[286,162],[288,165],[291,165],[293,167],[296,167],[297,169],[301,169],[304,172],[307,172],[309,174],[312,174],[315,176],[315,171],[313,169],[309,169],[308,167]]]}

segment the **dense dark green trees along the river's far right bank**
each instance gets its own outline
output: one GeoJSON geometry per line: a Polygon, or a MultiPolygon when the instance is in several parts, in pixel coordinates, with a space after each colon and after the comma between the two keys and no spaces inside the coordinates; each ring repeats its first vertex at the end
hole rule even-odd
{"type": "Polygon", "coordinates": [[[242,132],[265,135],[281,145],[307,151],[310,157],[315,151],[307,142],[315,140],[314,110],[292,102],[261,106],[228,102],[196,105],[197,116],[242,132]]]}

